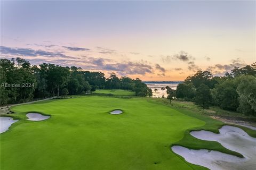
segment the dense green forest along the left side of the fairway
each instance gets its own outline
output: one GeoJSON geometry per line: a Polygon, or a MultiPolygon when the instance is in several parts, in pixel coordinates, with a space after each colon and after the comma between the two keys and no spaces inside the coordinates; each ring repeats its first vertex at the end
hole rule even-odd
{"type": "Polygon", "coordinates": [[[0,61],[1,105],[24,103],[39,98],[90,94],[96,89],[132,90],[136,96],[152,96],[139,78],[109,78],[101,72],[83,71],[81,67],[54,64],[31,65],[17,57],[0,61]]]}

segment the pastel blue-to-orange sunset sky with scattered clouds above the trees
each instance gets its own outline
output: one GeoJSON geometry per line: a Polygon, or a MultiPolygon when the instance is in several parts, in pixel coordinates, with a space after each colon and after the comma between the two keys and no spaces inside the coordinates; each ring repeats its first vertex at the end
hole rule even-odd
{"type": "Polygon", "coordinates": [[[143,81],[256,62],[256,1],[1,1],[1,58],[143,81]]]}

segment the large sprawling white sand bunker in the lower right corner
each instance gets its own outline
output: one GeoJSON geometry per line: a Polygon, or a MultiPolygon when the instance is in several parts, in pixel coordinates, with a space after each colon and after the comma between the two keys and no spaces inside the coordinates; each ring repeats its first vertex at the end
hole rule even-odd
{"type": "Polygon", "coordinates": [[[250,137],[246,132],[234,126],[222,126],[220,133],[210,131],[190,132],[193,137],[217,141],[223,147],[239,152],[244,158],[223,154],[219,151],[207,149],[193,150],[181,146],[173,146],[172,150],[189,163],[201,165],[212,170],[220,169],[255,169],[256,166],[256,138],[250,137]]]}

